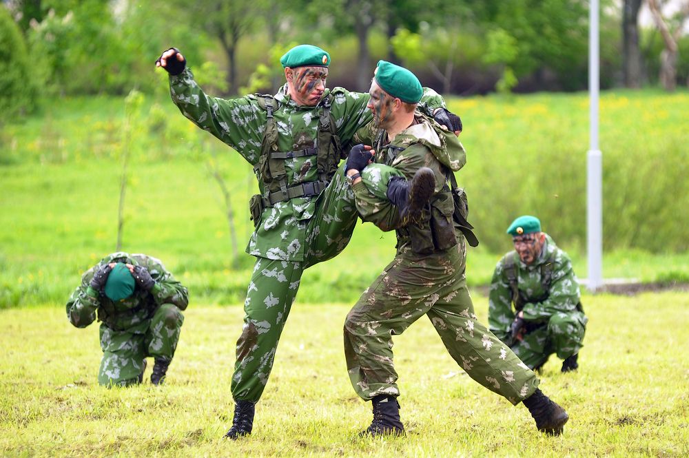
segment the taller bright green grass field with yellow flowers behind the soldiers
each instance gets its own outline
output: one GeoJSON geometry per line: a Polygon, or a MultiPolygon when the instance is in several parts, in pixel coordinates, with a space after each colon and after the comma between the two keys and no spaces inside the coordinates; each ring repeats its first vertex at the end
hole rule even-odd
{"type": "MultiPolygon", "coordinates": [[[[606,278],[689,281],[689,225],[676,198],[689,194],[689,134],[680,127],[688,100],[682,91],[601,98],[606,278]]],[[[125,151],[132,161],[123,249],[161,258],[192,302],[243,300],[253,264],[243,253],[252,230],[247,202],[256,189],[251,167],[185,120],[167,96],[141,102],[129,129],[123,98],[93,97],[50,101],[41,114],[0,132],[0,308],[61,304],[81,273],[114,251],[125,151]],[[232,191],[237,260],[210,161],[232,191]]],[[[469,163],[458,178],[482,241],[469,250],[469,284],[490,281],[495,262],[511,249],[504,229],[520,213],[540,216],[586,277],[585,95],[449,103],[464,118],[469,163]]],[[[353,303],[392,259],[394,244],[393,234],[360,225],[341,256],[305,273],[300,299],[353,303]]]]}

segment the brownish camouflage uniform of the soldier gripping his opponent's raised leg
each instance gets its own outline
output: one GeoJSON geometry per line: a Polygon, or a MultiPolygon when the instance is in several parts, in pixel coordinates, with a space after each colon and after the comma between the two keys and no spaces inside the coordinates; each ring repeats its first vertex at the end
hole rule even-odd
{"type": "Polygon", "coordinates": [[[349,378],[365,400],[398,396],[393,366],[392,335],[404,332],[427,315],[453,359],[476,382],[517,404],[530,396],[538,379],[517,356],[477,321],[466,287],[465,240],[453,224],[454,204],[447,178],[464,165],[462,145],[453,134],[439,136],[439,127],[420,113],[417,123],[384,145],[387,134],[364,129],[364,143],[376,138],[376,162],[390,165],[411,180],[420,167],[435,173],[431,211],[420,221],[405,224],[398,210],[381,200],[387,178],[376,165],[362,171],[353,185],[364,221],[383,230],[396,229],[397,254],[364,291],[345,322],[345,357],[349,378]],[[450,144],[449,142],[455,142],[450,144]]]}

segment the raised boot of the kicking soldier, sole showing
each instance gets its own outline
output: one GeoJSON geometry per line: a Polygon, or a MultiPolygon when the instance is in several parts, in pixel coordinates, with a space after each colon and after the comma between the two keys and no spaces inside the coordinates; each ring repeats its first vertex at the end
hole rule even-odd
{"type": "Polygon", "coordinates": [[[390,178],[387,198],[398,207],[402,218],[418,218],[435,191],[435,174],[429,167],[421,167],[411,181],[402,176],[390,178]]]}

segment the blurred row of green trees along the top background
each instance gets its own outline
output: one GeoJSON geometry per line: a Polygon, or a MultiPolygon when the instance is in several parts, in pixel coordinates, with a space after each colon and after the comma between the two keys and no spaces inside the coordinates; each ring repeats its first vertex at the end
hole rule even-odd
{"type": "MultiPolygon", "coordinates": [[[[14,37],[3,52],[32,66],[20,78],[25,110],[37,91],[154,92],[152,63],[172,45],[197,72],[223,78],[214,87],[225,95],[276,90],[276,54],[293,43],[327,48],[329,85],[353,90],[367,90],[378,59],[407,65],[446,94],[575,91],[588,80],[583,0],[3,0],[0,8],[0,38],[14,37]]],[[[688,0],[602,0],[601,85],[686,85],[688,11],[688,0]],[[644,8],[650,20],[641,25],[644,8]]],[[[19,100],[9,87],[3,98],[19,100]]]]}

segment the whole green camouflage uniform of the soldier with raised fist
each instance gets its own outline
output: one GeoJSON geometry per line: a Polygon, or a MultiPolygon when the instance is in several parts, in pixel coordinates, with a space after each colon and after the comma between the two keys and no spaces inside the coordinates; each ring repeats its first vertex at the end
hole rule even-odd
{"type": "MultiPolygon", "coordinates": [[[[344,165],[339,169],[337,165],[347,156],[356,130],[371,121],[366,108],[369,94],[326,89],[320,103],[309,107],[291,100],[285,84],[270,101],[277,106],[267,110],[262,96],[232,100],[207,96],[188,67],[169,81],[172,100],[181,112],[235,149],[254,166],[258,178],[261,194],[252,198],[251,208],[256,230],[247,246],[247,253],[257,259],[232,377],[234,399],[255,403],[267,383],[302,272],[340,253],[356,225],[353,193],[345,181],[344,165]],[[331,121],[324,115],[328,106],[331,121]],[[267,132],[269,112],[276,132],[267,132]],[[329,148],[323,167],[320,157],[303,152],[318,147],[323,126],[333,124],[337,138],[331,145],[320,145],[329,148]],[[268,136],[274,141],[268,148],[270,158],[265,154],[268,136]],[[268,174],[280,177],[283,191],[303,185],[313,195],[271,203],[265,185],[268,174]]],[[[431,90],[426,90],[424,103],[428,112],[444,107],[442,98],[431,90]]]]}

